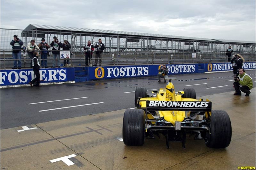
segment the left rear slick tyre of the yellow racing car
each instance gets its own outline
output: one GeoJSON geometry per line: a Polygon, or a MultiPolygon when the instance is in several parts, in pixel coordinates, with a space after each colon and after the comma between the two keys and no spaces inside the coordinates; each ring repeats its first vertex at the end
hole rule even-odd
{"type": "Polygon", "coordinates": [[[126,109],[123,119],[123,141],[129,146],[141,146],[145,141],[145,112],[126,109]]]}

